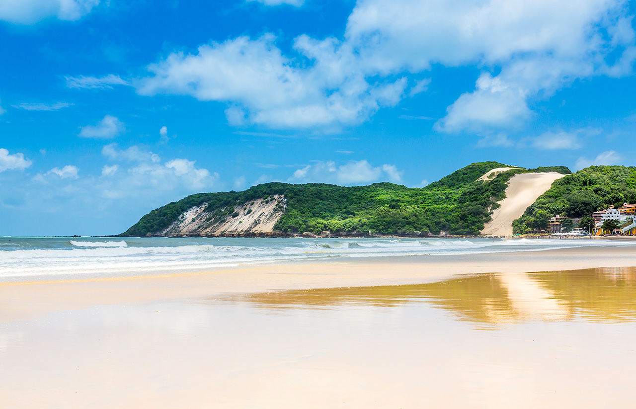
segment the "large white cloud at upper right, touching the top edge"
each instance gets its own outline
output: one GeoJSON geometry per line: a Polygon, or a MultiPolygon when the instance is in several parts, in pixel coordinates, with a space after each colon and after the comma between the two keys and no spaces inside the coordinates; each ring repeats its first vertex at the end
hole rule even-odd
{"type": "Polygon", "coordinates": [[[576,78],[630,72],[636,52],[626,3],[361,0],[346,36],[365,65],[380,73],[419,72],[432,64],[501,68],[494,79],[482,76],[438,123],[446,132],[478,132],[517,125],[529,118],[529,101],[576,78]],[[609,66],[605,57],[614,50],[622,57],[609,66]]]}

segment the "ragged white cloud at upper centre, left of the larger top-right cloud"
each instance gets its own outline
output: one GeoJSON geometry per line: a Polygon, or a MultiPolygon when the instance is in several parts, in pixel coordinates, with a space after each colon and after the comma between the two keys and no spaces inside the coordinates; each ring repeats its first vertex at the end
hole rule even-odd
{"type": "Polygon", "coordinates": [[[278,128],[328,127],[365,120],[382,106],[399,102],[406,78],[370,85],[349,46],[334,38],[294,40],[310,62],[298,66],[275,45],[272,34],[202,45],[196,54],[172,53],[151,64],[154,74],[135,85],[139,94],[191,95],[224,101],[232,125],[278,128]]]}

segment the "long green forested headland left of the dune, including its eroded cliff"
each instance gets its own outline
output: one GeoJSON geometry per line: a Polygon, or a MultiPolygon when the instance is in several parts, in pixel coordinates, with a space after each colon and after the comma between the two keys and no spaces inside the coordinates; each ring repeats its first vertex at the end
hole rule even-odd
{"type": "Polygon", "coordinates": [[[522,172],[570,173],[567,167],[517,168],[487,181],[478,180],[500,167],[509,165],[472,163],[421,189],[392,183],[352,187],[266,183],[240,192],[199,193],[149,212],[122,236],[249,235],[263,231],[259,218],[274,217],[272,233],[276,235],[324,231],[336,235],[477,235],[505,197],[510,177],[522,172]],[[249,227],[249,214],[261,210],[258,217],[249,219],[249,227]],[[244,221],[241,218],[246,223],[239,225],[244,221]],[[233,219],[239,221],[232,223],[233,219]],[[179,226],[188,223],[186,234],[179,226]]]}

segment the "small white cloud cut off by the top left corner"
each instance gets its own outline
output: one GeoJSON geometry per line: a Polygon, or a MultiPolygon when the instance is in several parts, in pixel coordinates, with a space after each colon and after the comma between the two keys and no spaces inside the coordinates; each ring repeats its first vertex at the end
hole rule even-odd
{"type": "Polygon", "coordinates": [[[79,20],[90,13],[99,0],[3,0],[0,20],[17,24],[33,24],[44,18],[79,20]]]}

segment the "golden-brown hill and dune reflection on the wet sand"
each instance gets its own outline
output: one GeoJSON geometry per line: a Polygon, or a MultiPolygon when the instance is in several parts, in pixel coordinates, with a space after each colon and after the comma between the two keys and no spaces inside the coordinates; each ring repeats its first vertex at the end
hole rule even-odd
{"type": "Polygon", "coordinates": [[[632,321],[636,319],[636,268],[464,275],[430,284],[280,291],[223,300],[268,310],[427,302],[459,319],[483,324],[632,321]]]}

